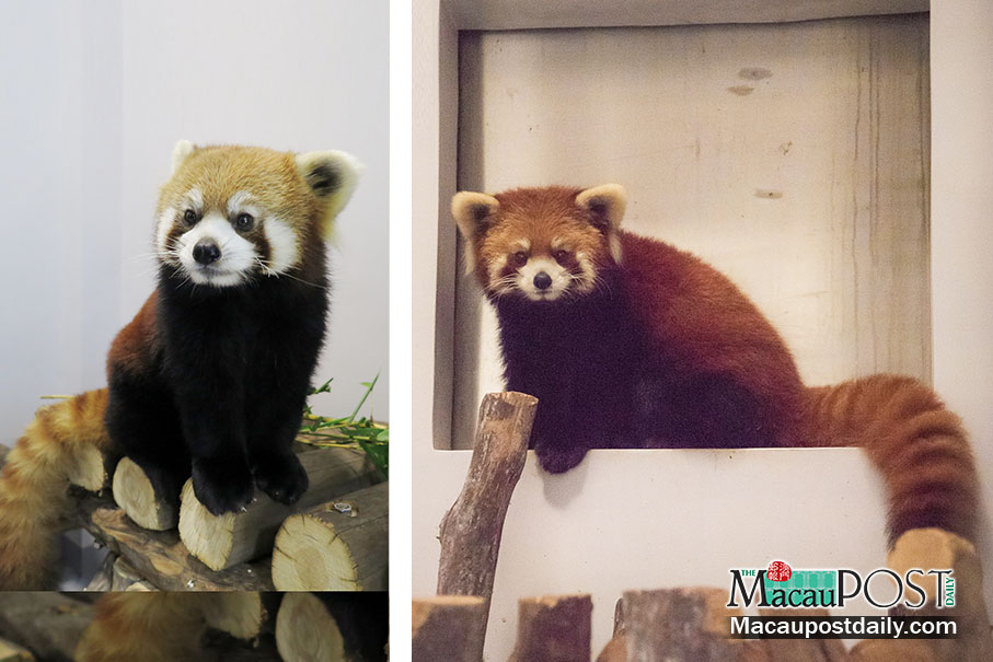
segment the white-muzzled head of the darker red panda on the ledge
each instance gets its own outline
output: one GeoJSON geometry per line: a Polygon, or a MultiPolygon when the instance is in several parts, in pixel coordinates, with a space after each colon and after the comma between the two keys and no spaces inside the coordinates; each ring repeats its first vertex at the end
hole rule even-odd
{"type": "Polygon", "coordinates": [[[452,214],[470,268],[492,298],[557,301],[592,292],[620,258],[623,189],[605,185],[459,193],[452,214]]]}

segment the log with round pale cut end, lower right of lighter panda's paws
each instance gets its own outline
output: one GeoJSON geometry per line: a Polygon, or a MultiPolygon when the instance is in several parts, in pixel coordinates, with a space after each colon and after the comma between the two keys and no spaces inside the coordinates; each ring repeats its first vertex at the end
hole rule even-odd
{"type": "Polygon", "coordinates": [[[381,483],[287,518],[273,549],[276,590],[389,590],[389,509],[381,483]]]}

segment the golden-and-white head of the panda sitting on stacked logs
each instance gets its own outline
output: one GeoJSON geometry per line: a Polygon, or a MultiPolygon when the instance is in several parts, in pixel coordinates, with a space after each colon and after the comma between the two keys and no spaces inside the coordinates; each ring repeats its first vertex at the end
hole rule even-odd
{"type": "Polygon", "coordinates": [[[231,287],[297,269],[355,187],[343,152],[176,146],[159,199],[159,259],[195,284],[231,287]]]}

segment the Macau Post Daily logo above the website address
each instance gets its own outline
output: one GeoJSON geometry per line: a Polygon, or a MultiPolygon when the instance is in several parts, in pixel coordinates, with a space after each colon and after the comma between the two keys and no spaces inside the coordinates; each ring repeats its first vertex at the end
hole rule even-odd
{"type": "Polygon", "coordinates": [[[774,560],[764,569],[730,570],[729,607],[844,607],[852,600],[864,600],[876,608],[904,606],[917,609],[927,602],[927,590],[935,607],[955,606],[955,578],[950,569],[911,568],[900,574],[877,568],[865,577],[850,569],[794,570],[774,560]]]}

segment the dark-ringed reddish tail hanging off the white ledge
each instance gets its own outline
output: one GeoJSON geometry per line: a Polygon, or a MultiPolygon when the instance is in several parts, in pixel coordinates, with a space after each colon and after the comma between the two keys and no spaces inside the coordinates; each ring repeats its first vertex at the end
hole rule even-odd
{"type": "Polygon", "coordinates": [[[878,374],[807,391],[810,445],[862,446],[882,473],[891,546],[905,531],[928,526],[975,539],[972,451],[961,420],[931,388],[878,374]]]}

